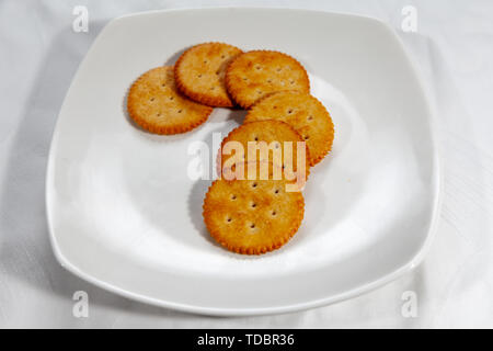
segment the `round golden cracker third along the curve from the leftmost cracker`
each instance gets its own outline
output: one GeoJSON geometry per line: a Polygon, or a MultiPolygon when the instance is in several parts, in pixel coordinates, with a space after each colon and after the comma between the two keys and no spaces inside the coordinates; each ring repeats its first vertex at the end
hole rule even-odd
{"type": "Polygon", "coordinates": [[[249,109],[275,91],[309,92],[310,81],[295,58],[278,52],[253,50],[237,56],[228,66],[226,88],[240,106],[249,109]]]}

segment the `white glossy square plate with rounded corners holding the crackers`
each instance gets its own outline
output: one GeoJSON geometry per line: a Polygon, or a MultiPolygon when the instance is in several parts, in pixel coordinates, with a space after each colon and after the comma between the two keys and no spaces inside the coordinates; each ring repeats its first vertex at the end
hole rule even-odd
{"type": "Polygon", "coordinates": [[[348,298],[415,267],[438,190],[431,109],[387,25],[301,10],[206,9],[106,25],[62,104],[46,197],[54,251],[77,275],[160,306],[254,315],[348,298]],[[209,238],[202,204],[210,181],[187,177],[191,141],[211,145],[213,132],[226,135],[244,112],[216,109],[199,128],[171,137],[136,128],[125,112],[139,75],[210,41],[297,57],[335,124],[333,151],[305,190],[300,230],[260,257],[209,238]]]}

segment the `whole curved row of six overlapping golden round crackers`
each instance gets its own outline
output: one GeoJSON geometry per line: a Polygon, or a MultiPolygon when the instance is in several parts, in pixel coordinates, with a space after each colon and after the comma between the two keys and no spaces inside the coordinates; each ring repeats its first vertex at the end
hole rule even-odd
{"type": "Polygon", "coordinates": [[[214,181],[205,196],[206,227],[223,247],[246,254],[275,250],[298,231],[305,213],[305,183],[298,180],[329,154],[334,139],[331,116],[310,95],[298,60],[273,50],[244,53],[223,43],[195,45],[174,67],[139,77],[127,106],[140,127],[157,134],[188,132],[205,123],[213,107],[248,110],[243,124],[222,140],[218,168],[229,177],[214,181]],[[246,152],[252,143],[273,146],[272,152],[260,158],[256,150],[246,152]],[[243,151],[230,155],[230,145],[243,151]],[[267,165],[267,177],[261,176],[262,165],[267,165]]]}

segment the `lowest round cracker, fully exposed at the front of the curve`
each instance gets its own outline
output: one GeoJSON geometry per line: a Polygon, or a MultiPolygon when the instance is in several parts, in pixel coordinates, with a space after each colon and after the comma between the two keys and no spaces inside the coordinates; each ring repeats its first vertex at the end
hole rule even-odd
{"type": "Polygon", "coordinates": [[[305,213],[302,194],[285,185],[286,180],[216,180],[204,200],[210,236],[238,253],[280,248],[298,231],[305,213]]]}

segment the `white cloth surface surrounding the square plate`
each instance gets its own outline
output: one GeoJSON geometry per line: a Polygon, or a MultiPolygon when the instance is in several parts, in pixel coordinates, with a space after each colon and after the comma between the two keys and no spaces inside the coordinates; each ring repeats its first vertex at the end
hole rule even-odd
{"type": "Polygon", "coordinates": [[[366,14],[395,29],[436,104],[444,171],[438,233],[414,272],[328,307],[213,318],[128,301],[57,263],[45,219],[45,169],[55,121],[79,63],[115,16],[204,2],[0,2],[0,327],[492,328],[493,1],[488,0],[207,3],[366,14]],[[89,10],[88,33],[72,31],[76,5],[89,10]],[[405,5],[417,10],[416,33],[401,29],[405,5]],[[79,290],[89,294],[89,318],[72,316],[72,295],[79,290]],[[416,293],[416,318],[401,314],[406,291],[416,293]]]}

